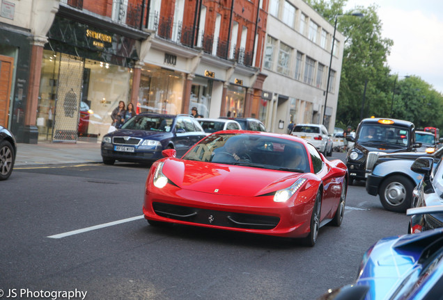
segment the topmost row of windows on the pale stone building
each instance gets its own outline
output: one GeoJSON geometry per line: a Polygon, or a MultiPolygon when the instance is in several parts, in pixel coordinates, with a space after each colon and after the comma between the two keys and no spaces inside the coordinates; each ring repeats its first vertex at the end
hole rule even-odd
{"type": "MultiPolygon", "coordinates": [[[[270,0],[269,13],[277,17],[290,28],[298,30],[302,35],[306,36],[312,42],[319,44],[323,49],[330,51],[332,47],[332,35],[327,33],[313,22],[307,15],[295,8],[287,0],[270,0]],[[281,6],[283,3],[283,6],[281,6]],[[298,21],[297,21],[298,16],[298,21]],[[298,26],[297,26],[298,25],[298,26]]],[[[334,42],[334,55],[336,56],[338,49],[338,41],[334,42]]]]}

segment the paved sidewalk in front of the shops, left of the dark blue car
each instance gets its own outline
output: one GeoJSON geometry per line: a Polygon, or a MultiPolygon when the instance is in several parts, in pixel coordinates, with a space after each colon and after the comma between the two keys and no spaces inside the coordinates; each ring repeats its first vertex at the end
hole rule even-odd
{"type": "Polygon", "coordinates": [[[38,144],[17,144],[14,166],[101,162],[100,143],[38,142],[38,144]]]}

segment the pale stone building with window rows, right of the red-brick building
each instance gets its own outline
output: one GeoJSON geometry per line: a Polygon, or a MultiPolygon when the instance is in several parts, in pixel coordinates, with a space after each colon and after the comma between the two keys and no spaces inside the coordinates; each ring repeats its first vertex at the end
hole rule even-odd
{"type": "MultiPolygon", "coordinates": [[[[263,98],[268,129],[286,133],[289,122],[323,121],[334,25],[302,0],[270,0],[263,56],[263,98]]],[[[334,131],[344,36],[336,31],[325,126],[334,131]]]]}

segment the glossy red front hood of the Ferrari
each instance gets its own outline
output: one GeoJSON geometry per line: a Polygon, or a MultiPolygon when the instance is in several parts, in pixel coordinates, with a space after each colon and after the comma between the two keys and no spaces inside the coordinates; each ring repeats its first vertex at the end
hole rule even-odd
{"type": "Polygon", "coordinates": [[[288,188],[302,173],[169,158],[163,174],[184,190],[240,197],[261,196],[288,188]],[[251,177],[254,176],[254,180],[251,177]]]}

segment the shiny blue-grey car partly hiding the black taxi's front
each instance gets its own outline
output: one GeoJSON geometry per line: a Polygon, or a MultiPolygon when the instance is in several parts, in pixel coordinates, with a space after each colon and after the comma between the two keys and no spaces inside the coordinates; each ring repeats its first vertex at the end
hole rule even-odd
{"type": "Polygon", "coordinates": [[[414,160],[426,156],[434,165],[442,159],[443,148],[434,153],[398,152],[378,156],[372,172],[366,179],[366,192],[379,195],[382,206],[387,210],[404,213],[412,205],[412,191],[423,178],[411,169],[414,160]]]}

